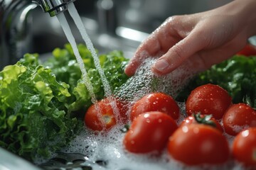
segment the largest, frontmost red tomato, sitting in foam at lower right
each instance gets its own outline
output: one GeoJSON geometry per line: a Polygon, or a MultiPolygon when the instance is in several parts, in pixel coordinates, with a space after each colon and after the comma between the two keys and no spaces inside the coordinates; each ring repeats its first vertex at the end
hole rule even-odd
{"type": "Polygon", "coordinates": [[[168,151],[187,165],[223,164],[230,155],[228,141],[219,130],[195,123],[182,126],[171,135],[168,151]]]}

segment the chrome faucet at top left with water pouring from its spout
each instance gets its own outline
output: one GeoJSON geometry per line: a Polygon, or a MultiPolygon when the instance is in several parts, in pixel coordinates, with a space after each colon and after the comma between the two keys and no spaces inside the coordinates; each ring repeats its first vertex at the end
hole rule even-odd
{"type": "Polygon", "coordinates": [[[44,12],[56,16],[66,11],[72,1],[75,0],[0,0],[0,70],[31,50],[29,13],[33,8],[41,6],[44,12]]]}

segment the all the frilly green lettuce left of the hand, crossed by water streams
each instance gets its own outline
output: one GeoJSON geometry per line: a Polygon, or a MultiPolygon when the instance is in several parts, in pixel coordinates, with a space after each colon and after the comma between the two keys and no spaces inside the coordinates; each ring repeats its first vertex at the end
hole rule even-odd
{"type": "MultiPolygon", "coordinates": [[[[97,99],[104,98],[92,55],[85,45],[78,50],[97,99]]],[[[128,59],[119,51],[99,58],[112,91],[117,90],[128,79],[128,59]]],[[[67,145],[83,128],[82,118],[92,104],[69,44],[53,50],[46,62],[39,59],[26,54],[0,72],[0,147],[29,160],[47,158],[67,145]]]]}

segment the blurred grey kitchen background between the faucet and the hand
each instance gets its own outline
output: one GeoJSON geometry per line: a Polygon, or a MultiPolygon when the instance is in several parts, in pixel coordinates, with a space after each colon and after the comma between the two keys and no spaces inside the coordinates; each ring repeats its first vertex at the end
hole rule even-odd
{"type": "MultiPolygon", "coordinates": [[[[76,0],[74,4],[100,53],[122,50],[126,57],[131,57],[139,43],[169,16],[206,11],[228,2],[230,0],[76,0]]],[[[43,13],[40,7],[31,13],[30,52],[51,52],[68,42],[56,17],[43,13]]],[[[82,42],[71,19],[69,23],[77,42],[82,42]]]]}

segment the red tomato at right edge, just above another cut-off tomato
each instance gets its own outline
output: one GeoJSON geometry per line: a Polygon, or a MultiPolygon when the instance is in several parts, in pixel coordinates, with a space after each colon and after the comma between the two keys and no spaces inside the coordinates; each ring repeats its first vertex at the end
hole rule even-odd
{"type": "Polygon", "coordinates": [[[229,135],[237,135],[246,128],[256,127],[256,111],[245,103],[233,104],[223,115],[223,127],[229,135]]]}

